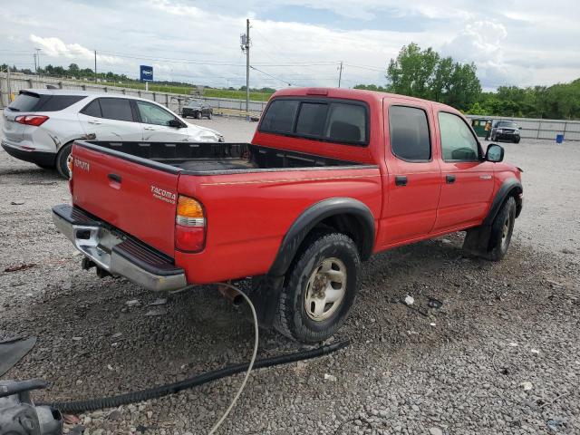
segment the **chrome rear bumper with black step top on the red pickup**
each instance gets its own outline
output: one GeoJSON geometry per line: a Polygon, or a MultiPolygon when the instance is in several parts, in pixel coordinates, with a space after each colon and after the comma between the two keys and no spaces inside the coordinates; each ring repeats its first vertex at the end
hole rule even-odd
{"type": "Polygon", "coordinates": [[[149,290],[177,290],[188,283],[185,271],[169,258],[143,246],[121,231],[111,230],[80,208],[53,208],[53,222],[74,247],[111,275],[124,276],[149,290]]]}

